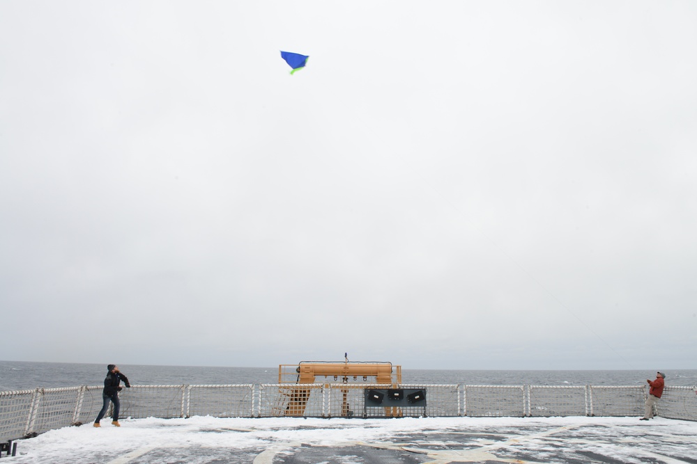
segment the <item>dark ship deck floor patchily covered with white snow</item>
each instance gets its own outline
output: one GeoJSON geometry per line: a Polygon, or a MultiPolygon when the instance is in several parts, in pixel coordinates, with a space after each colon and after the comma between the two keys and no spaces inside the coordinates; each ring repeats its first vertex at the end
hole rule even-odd
{"type": "Polygon", "coordinates": [[[657,417],[107,419],[19,440],[1,463],[697,463],[697,422],[657,417]]]}

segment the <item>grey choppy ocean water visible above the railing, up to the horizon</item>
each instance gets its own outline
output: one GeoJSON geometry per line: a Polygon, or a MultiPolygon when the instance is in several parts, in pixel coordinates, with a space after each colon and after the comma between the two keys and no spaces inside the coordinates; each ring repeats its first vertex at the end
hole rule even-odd
{"type": "MultiPolygon", "coordinates": [[[[277,383],[278,367],[119,365],[132,385],[277,383]]],[[[102,385],[106,365],[0,361],[0,391],[102,385]]],[[[666,371],[666,385],[697,385],[697,369],[666,371]]],[[[405,384],[645,385],[655,371],[498,371],[402,369],[405,384]]],[[[321,381],[321,378],[319,379],[321,381]]]]}

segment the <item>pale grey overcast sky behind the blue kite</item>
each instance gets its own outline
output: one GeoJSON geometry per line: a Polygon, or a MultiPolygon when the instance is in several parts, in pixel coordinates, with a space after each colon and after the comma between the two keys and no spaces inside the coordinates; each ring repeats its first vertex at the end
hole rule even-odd
{"type": "Polygon", "coordinates": [[[3,1],[0,359],[694,369],[695,24],[3,1]]]}

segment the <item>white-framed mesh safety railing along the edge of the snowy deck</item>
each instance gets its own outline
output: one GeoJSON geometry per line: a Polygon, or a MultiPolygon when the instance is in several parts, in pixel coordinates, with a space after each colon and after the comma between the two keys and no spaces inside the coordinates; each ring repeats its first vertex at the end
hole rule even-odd
{"type": "MultiPolygon", "coordinates": [[[[380,384],[134,385],[121,392],[121,417],[552,417],[643,415],[644,386],[399,385],[422,389],[410,407],[366,404],[380,384]]],[[[0,392],[0,441],[91,422],[102,387],[0,392]]],[[[109,411],[109,415],[111,411],[109,411]]],[[[657,414],[697,421],[697,388],[666,387],[657,414]]]]}

